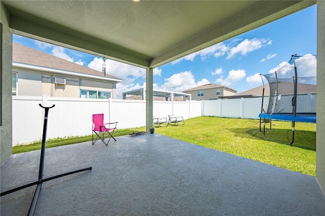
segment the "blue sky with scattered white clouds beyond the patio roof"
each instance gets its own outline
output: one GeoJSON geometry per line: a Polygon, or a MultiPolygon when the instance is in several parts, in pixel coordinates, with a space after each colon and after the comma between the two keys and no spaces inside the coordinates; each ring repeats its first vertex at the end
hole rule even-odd
{"type": "MultiPolygon", "coordinates": [[[[238,91],[262,85],[259,74],[280,67],[291,55],[316,54],[316,5],[154,69],[154,89],[184,91],[207,83],[238,91]]],[[[14,35],[13,41],[102,71],[103,58],[14,35]]],[[[106,59],[107,74],[121,78],[122,92],[145,87],[143,68],[106,59]]]]}

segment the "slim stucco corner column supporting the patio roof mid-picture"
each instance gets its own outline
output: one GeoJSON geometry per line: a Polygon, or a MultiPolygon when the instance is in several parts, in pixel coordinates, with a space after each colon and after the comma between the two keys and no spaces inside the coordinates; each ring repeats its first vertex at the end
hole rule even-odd
{"type": "Polygon", "coordinates": [[[153,110],[153,68],[147,68],[146,76],[146,131],[148,132],[150,127],[152,127],[152,110],[153,110]]]}

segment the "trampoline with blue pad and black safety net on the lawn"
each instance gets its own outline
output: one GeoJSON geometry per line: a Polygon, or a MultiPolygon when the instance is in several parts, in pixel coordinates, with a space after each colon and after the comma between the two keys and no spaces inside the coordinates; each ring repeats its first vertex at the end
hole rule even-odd
{"type": "Polygon", "coordinates": [[[259,131],[266,136],[267,121],[270,122],[268,130],[271,130],[272,120],[289,121],[292,126],[289,145],[292,145],[295,122],[316,123],[316,55],[292,55],[281,68],[271,74],[261,74],[261,78],[263,94],[261,114],[258,115],[259,131]],[[269,84],[270,94],[267,96],[263,77],[269,84]]]}

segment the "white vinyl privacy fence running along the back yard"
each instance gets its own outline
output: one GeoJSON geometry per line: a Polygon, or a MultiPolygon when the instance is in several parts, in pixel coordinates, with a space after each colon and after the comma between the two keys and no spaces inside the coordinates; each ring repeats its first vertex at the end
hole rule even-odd
{"type": "MultiPolygon", "coordinates": [[[[190,119],[199,116],[258,119],[262,99],[241,98],[203,101],[153,101],[153,115],[174,114],[190,119]]],[[[13,96],[13,145],[42,139],[44,109],[49,110],[46,138],[91,134],[92,114],[104,114],[104,122],[119,122],[118,129],[146,125],[145,100],[13,96]]],[[[266,102],[265,102],[266,104],[266,102]]]]}

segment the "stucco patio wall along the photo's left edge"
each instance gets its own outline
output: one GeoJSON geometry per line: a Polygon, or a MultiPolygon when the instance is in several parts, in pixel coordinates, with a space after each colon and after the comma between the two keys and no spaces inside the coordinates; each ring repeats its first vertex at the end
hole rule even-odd
{"type": "Polygon", "coordinates": [[[1,63],[1,110],[0,110],[0,164],[12,154],[12,33],[8,25],[7,11],[0,2],[0,21],[3,33],[0,36],[2,50],[1,63]]]}

